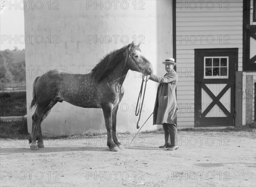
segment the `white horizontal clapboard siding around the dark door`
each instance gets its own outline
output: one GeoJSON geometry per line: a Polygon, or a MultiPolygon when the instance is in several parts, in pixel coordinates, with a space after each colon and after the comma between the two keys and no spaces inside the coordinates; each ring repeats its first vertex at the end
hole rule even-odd
{"type": "Polygon", "coordinates": [[[243,1],[177,1],[178,126],[194,126],[194,49],[239,48],[242,70],[243,1]]]}

